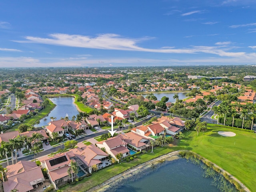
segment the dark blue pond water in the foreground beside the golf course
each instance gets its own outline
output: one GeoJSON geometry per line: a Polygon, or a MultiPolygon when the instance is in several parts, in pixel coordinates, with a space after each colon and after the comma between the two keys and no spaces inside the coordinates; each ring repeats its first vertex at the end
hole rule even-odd
{"type": "Polygon", "coordinates": [[[107,192],[219,192],[212,178],[186,159],[177,159],[147,168],[107,188],[107,192]]]}

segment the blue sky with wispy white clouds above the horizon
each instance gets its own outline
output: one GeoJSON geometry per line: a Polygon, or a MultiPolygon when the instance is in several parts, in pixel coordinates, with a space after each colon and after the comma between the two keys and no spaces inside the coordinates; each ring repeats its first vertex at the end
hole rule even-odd
{"type": "Polygon", "coordinates": [[[0,2],[0,67],[256,64],[255,0],[0,2]]]}

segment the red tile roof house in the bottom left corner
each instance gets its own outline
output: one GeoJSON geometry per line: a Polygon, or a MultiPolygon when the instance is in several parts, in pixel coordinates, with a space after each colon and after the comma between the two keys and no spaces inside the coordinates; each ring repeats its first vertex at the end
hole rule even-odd
{"type": "Polygon", "coordinates": [[[14,189],[18,192],[29,192],[45,181],[41,168],[35,162],[19,161],[6,168],[8,181],[3,182],[4,192],[14,189]]]}

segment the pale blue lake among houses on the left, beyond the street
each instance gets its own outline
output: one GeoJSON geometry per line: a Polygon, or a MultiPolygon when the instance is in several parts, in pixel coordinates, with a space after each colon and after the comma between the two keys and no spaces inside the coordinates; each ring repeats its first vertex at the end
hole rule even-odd
{"type": "Polygon", "coordinates": [[[56,107],[48,114],[48,116],[40,120],[38,126],[48,125],[51,121],[50,117],[56,117],[55,120],[60,120],[61,117],[64,118],[68,115],[69,119],[71,119],[72,116],[76,116],[79,113],[74,104],[73,97],[52,97],[49,99],[56,104],[56,107]]]}

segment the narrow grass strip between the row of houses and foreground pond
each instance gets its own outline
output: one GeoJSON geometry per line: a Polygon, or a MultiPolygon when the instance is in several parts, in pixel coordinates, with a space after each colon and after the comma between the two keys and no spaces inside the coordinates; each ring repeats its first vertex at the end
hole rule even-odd
{"type": "Polygon", "coordinates": [[[171,151],[172,149],[170,147],[154,149],[154,153],[149,152],[146,154],[140,154],[138,158],[134,159],[133,161],[122,162],[121,164],[109,166],[107,168],[99,170],[96,173],[92,173],[92,176],[84,178],[84,180],[78,182],[78,184],[76,184],[75,186],[70,187],[70,185],[67,185],[64,186],[63,188],[60,188],[60,190],[63,192],[87,191],[90,188],[100,185],[102,182],[105,182],[106,180],[109,180],[110,178],[117,174],[120,174],[136,165],[142,164],[144,162],[147,162],[148,160],[151,160],[153,158],[156,158],[171,151]]]}

